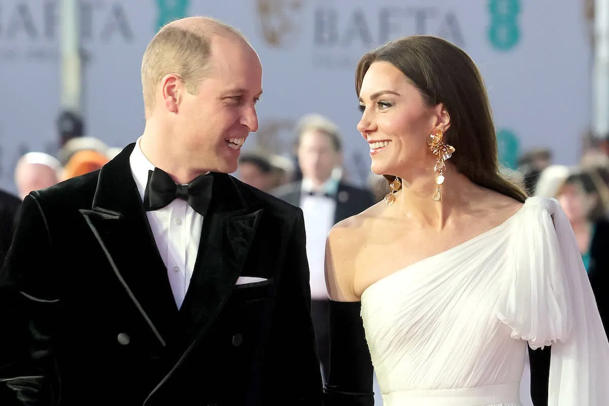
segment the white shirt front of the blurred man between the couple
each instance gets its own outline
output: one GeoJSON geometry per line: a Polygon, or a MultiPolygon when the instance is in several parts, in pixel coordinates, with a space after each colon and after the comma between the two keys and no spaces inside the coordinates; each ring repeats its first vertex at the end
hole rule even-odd
{"type": "Polygon", "coordinates": [[[327,197],[336,195],[338,181],[330,178],[317,191],[314,191],[311,181],[303,179],[300,194],[300,208],[305,217],[306,254],[311,274],[311,298],[328,299],[324,261],[326,253],[326,237],[334,226],[336,214],[336,199],[327,197]],[[316,192],[309,196],[309,192],[316,192]]]}

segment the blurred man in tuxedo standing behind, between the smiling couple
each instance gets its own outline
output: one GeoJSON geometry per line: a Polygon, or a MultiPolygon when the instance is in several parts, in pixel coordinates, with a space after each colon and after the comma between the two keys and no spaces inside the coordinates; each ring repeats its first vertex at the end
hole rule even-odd
{"type": "Polygon", "coordinates": [[[312,114],[301,118],[296,130],[298,163],[303,180],[282,186],[274,194],[300,207],[305,215],[306,251],[311,268],[311,312],[327,381],[329,302],[324,275],[326,236],[337,222],[375,204],[375,198],[371,192],[349,186],[333,176],[342,164],[342,140],[336,124],[312,114]]]}

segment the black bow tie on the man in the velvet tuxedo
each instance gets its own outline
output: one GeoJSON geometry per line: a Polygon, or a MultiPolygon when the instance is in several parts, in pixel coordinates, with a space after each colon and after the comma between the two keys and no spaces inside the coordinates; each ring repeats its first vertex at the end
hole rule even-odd
{"type": "Polygon", "coordinates": [[[152,211],[164,208],[175,199],[186,200],[200,215],[206,215],[211,202],[211,173],[194,178],[189,184],[176,184],[164,170],[148,171],[148,184],[144,192],[144,209],[152,211]]]}

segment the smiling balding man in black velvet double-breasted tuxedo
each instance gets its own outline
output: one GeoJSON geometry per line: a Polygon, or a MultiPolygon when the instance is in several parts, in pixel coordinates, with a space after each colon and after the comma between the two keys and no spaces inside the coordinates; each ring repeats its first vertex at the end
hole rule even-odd
{"type": "Polygon", "coordinates": [[[236,29],[168,24],[141,138],[26,197],[0,278],[29,319],[24,405],[321,404],[301,211],[227,174],[261,77],[236,29]]]}

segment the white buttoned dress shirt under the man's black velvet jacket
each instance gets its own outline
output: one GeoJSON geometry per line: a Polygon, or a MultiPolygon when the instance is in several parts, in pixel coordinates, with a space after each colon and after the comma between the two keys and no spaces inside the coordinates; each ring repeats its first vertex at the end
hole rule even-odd
{"type": "MultiPolygon", "coordinates": [[[[139,196],[144,200],[148,171],[153,170],[154,165],[144,156],[139,148],[139,141],[140,139],[135,143],[129,163],[138,186],[139,196]]],[[[172,201],[162,209],[148,211],[146,215],[158,252],[167,267],[175,304],[180,309],[197,260],[203,216],[181,199],[172,201]]]]}

